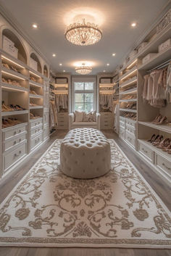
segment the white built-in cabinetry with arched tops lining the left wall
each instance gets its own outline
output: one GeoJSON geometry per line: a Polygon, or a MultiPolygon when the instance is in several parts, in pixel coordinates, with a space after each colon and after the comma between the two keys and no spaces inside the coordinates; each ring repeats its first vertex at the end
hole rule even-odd
{"type": "Polygon", "coordinates": [[[6,109],[0,105],[0,176],[12,171],[30,154],[49,139],[49,68],[36,52],[26,52],[17,32],[2,30],[18,49],[17,57],[0,48],[0,99],[5,106],[22,107],[22,110],[6,109]],[[30,67],[29,59],[37,63],[37,70],[30,67]],[[40,61],[39,61],[40,59],[40,61]],[[7,119],[19,120],[5,127],[7,119]]]}

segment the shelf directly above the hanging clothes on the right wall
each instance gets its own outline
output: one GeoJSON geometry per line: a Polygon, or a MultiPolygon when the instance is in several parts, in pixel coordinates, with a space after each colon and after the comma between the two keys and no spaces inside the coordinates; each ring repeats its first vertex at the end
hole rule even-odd
{"type": "Polygon", "coordinates": [[[161,62],[167,61],[171,58],[171,47],[165,51],[159,52],[156,56],[149,60],[149,62],[144,63],[138,70],[148,70],[152,67],[159,65],[161,62]]]}

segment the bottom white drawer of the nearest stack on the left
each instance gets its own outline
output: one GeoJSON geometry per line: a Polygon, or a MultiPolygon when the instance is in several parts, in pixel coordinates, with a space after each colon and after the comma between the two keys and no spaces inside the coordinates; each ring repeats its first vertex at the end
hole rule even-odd
{"type": "Polygon", "coordinates": [[[7,171],[7,169],[14,165],[18,160],[20,160],[22,157],[25,156],[28,152],[28,144],[24,143],[21,146],[18,146],[17,149],[14,149],[12,152],[9,152],[8,154],[3,155],[3,169],[4,172],[7,171]]]}

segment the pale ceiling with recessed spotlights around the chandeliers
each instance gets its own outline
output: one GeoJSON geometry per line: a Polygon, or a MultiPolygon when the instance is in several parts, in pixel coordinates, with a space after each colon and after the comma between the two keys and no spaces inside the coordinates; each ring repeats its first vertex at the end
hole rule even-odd
{"type": "Polygon", "coordinates": [[[112,72],[167,3],[168,0],[0,0],[49,59],[51,67],[72,74],[74,63],[82,60],[93,62],[93,74],[112,72]],[[99,43],[75,46],[64,38],[66,25],[75,15],[82,14],[93,16],[100,24],[103,37],[99,43]],[[38,29],[32,28],[34,22],[38,29]],[[131,22],[137,26],[131,27],[131,22]],[[112,53],[116,56],[112,57],[112,53]]]}

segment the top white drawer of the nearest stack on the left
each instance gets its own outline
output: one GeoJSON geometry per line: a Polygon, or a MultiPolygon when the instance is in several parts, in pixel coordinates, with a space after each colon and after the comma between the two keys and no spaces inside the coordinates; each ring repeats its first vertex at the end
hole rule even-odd
{"type": "Polygon", "coordinates": [[[16,127],[8,128],[6,131],[2,132],[3,140],[12,138],[13,136],[17,136],[21,133],[24,133],[25,131],[27,132],[28,130],[28,125],[17,125],[16,127]]]}

